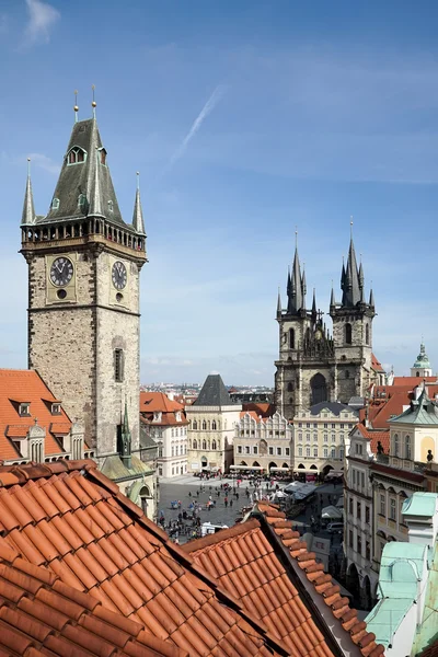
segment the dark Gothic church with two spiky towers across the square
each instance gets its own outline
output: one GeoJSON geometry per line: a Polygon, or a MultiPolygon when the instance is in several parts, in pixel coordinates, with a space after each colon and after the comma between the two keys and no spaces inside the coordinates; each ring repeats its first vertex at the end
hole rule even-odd
{"type": "Polygon", "coordinates": [[[319,402],[343,402],[362,396],[373,380],[372,290],[365,300],[365,278],[357,266],[353,238],[346,266],[341,275],[342,301],[330,302],[333,335],[316,310],[315,293],[311,310],[306,308],[306,276],[301,273],[296,247],[292,270],[287,281],[287,308],[278,295],[279,359],[276,361],[275,402],[277,410],[292,418],[300,408],[319,402]]]}

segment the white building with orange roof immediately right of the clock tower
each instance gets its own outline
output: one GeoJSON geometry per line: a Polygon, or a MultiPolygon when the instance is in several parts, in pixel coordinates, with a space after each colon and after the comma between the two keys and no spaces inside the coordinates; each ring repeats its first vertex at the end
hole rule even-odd
{"type": "Polygon", "coordinates": [[[141,392],[140,418],[140,441],[149,437],[158,446],[159,476],[171,479],[185,474],[188,420],[183,404],[170,400],[163,392],[141,392]]]}

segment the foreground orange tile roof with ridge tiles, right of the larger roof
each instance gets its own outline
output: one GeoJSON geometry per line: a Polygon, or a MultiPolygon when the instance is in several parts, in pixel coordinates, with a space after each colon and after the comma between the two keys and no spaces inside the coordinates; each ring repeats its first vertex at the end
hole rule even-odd
{"type": "Polygon", "coordinates": [[[254,507],[254,514],[246,522],[186,543],[184,551],[256,613],[290,655],[338,655],[334,636],[318,607],[312,606],[315,596],[333,613],[330,625],[338,623],[341,634],[345,631],[345,641],[350,637],[366,657],[383,655],[383,646],[376,644],[374,634],[357,619],[357,611],[349,608],[339,587],[316,563],[315,554],[308,552],[285,514],[263,503],[254,507]]]}

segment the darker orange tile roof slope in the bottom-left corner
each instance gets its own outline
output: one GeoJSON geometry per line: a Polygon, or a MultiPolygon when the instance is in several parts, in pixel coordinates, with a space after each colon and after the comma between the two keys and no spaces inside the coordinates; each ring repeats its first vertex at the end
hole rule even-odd
{"type": "Polygon", "coordinates": [[[0,655],[188,657],[0,538],[0,655]]]}

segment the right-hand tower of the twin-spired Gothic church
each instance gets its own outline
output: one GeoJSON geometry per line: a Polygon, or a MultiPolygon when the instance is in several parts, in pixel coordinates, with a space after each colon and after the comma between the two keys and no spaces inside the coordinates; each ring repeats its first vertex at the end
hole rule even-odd
{"type": "Polygon", "coordinates": [[[332,290],[330,316],[336,358],[335,399],[344,404],[351,396],[364,396],[372,382],[372,320],[376,315],[372,290],[365,300],[365,277],[357,266],[353,235],[347,264],[341,274],[342,301],[336,303],[332,290]]]}

